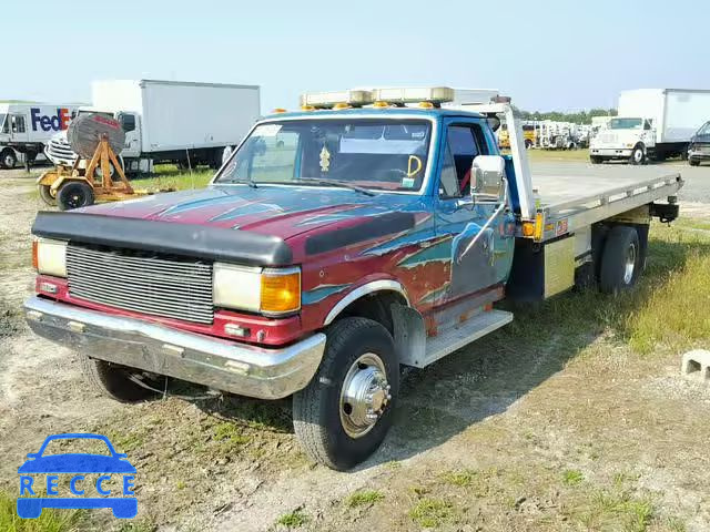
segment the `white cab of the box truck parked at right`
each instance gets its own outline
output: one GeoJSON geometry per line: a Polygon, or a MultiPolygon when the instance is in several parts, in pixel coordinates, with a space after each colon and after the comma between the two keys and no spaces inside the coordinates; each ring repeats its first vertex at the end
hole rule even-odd
{"type": "Polygon", "coordinates": [[[656,130],[651,119],[615,116],[591,139],[589,160],[592,164],[611,160],[643,164],[655,149],[656,130]]]}

